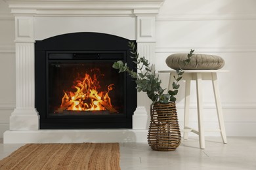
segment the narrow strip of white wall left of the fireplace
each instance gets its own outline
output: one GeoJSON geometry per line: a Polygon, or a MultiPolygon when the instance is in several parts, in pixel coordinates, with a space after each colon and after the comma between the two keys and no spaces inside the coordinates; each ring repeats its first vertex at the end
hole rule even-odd
{"type": "Polygon", "coordinates": [[[9,116],[15,107],[14,17],[0,0],[0,137],[9,129],[9,116]]]}

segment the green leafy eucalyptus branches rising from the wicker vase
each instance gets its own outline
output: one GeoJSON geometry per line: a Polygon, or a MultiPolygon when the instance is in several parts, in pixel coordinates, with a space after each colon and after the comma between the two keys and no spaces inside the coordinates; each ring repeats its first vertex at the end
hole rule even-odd
{"type": "MultiPolygon", "coordinates": [[[[169,90],[168,93],[163,93],[165,89],[161,88],[161,80],[159,76],[156,75],[156,71],[153,69],[153,65],[150,65],[148,59],[145,57],[140,58],[137,52],[137,48],[134,42],[129,42],[128,44],[131,54],[131,58],[133,59],[133,63],[137,64],[137,73],[132,69],[129,69],[127,63],[123,63],[123,61],[116,61],[113,64],[114,69],[119,69],[119,73],[127,72],[129,76],[135,79],[137,84],[138,92],[146,92],[148,97],[152,100],[153,104],[156,102],[160,103],[168,103],[169,101],[175,102],[176,98],[174,97],[178,93],[178,89],[180,85],[178,84],[182,78],[184,71],[182,69],[177,70],[177,77],[175,77],[175,82],[173,82],[173,90],[169,90]]],[[[184,60],[185,63],[190,62],[190,58],[192,57],[192,53],[194,50],[190,50],[188,54],[188,59],[184,60]]]]}

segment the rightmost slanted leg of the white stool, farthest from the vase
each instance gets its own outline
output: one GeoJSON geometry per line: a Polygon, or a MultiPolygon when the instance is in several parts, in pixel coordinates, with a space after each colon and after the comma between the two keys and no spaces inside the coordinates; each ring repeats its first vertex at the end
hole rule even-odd
{"type": "Polygon", "coordinates": [[[223,143],[227,143],[226,141],[226,130],[224,127],[224,119],[223,119],[223,110],[221,107],[221,97],[219,95],[219,86],[217,80],[217,73],[211,73],[213,78],[213,92],[215,97],[215,104],[217,108],[217,115],[219,120],[219,128],[221,129],[221,137],[223,138],[223,143]]]}

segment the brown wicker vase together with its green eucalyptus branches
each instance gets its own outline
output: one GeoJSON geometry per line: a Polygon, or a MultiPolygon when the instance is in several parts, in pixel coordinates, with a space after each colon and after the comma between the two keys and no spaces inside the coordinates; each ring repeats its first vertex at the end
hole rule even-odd
{"type": "MultiPolygon", "coordinates": [[[[179,81],[182,79],[182,69],[177,69],[177,77],[173,82],[173,90],[164,93],[165,89],[161,88],[161,80],[153,65],[150,65],[144,57],[140,58],[136,45],[129,42],[131,49],[131,58],[137,64],[137,71],[133,71],[123,61],[116,61],[113,64],[114,69],[118,69],[119,73],[127,72],[129,76],[135,79],[138,92],[146,92],[152,100],[150,108],[150,128],[148,130],[148,144],[153,150],[169,151],[175,150],[181,143],[181,131],[177,118],[175,95],[180,87],[179,81]]],[[[194,50],[188,54],[185,63],[190,62],[190,58],[194,50]]]]}

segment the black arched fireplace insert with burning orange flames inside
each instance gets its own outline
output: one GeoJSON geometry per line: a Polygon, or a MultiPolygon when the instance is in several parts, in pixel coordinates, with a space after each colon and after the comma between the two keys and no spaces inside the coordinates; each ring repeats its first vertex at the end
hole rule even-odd
{"type": "Polygon", "coordinates": [[[40,128],[131,128],[136,84],[112,68],[114,61],[122,60],[136,71],[129,41],[104,33],[69,33],[36,41],[40,128]]]}

